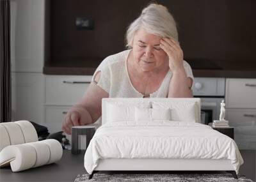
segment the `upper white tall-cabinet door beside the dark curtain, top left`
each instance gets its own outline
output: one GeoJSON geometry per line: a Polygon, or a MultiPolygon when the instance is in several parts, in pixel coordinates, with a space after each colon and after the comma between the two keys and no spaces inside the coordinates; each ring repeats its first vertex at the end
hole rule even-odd
{"type": "Polygon", "coordinates": [[[44,66],[45,0],[12,0],[12,72],[40,72],[44,66]]]}

